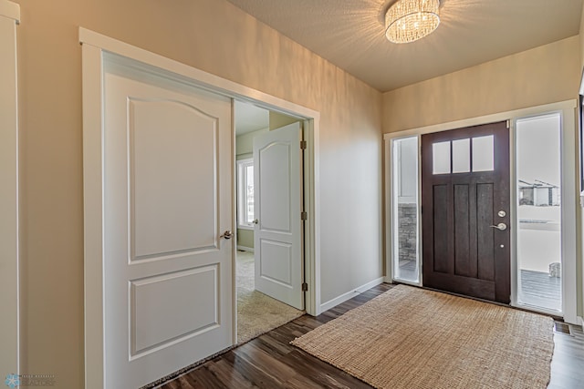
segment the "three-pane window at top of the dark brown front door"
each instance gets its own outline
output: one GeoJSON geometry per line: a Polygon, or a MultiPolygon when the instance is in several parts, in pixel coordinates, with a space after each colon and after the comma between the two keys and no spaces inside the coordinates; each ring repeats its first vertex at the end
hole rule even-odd
{"type": "Polygon", "coordinates": [[[493,135],[433,143],[433,174],[493,171],[494,143],[493,135]]]}

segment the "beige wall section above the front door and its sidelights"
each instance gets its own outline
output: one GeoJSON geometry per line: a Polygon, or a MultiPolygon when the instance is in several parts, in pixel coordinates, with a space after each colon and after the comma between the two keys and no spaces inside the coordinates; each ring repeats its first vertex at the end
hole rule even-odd
{"type": "Polygon", "coordinates": [[[387,92],[383,132],[577,97],[579,36],[387,92]]]}

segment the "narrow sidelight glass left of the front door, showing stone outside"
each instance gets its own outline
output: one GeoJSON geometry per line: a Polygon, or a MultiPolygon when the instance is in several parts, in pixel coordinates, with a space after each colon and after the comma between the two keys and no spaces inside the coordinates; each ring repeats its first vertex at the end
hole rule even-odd
{"type": "Polygon", "coordinates": [[[392,141],[393,279],[420,282],[418,137],[392,141]]]}

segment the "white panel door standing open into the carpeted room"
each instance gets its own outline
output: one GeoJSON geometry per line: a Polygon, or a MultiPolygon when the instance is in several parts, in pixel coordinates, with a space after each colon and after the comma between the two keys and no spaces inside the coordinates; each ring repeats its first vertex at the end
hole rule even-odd
{"type": "Polygon", "coordinates": [[[254,138],[255,289],[304,309],[301,128],[293,123],[254,138]]]}

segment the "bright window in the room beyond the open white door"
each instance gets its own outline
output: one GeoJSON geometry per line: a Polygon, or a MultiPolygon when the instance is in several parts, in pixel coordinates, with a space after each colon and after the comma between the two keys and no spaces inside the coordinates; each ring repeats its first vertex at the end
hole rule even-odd
{"type": "Polygon", "coordinates": [[[254,229],[254,159],[237,161],[237,228],[254,229]]]}

